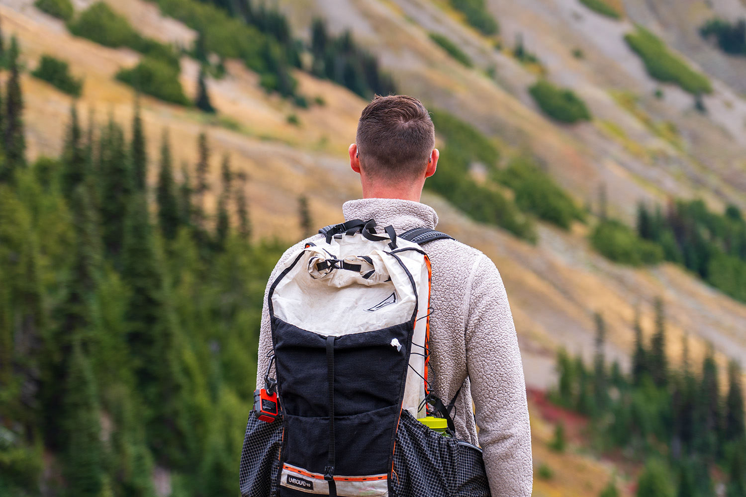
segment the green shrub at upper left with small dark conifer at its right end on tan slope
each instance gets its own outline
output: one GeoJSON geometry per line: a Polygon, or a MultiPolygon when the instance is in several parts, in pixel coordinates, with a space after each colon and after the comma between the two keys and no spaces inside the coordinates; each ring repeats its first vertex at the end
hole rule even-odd
{"type": "Polygon", "coordinates": [[[179,81],[178,70],[163,60],[142,57],[137,66],[119,71],[116,79],[155,98],[174,104],[189,105],[189,99],[184,95],[184,89],[179,81]]]}

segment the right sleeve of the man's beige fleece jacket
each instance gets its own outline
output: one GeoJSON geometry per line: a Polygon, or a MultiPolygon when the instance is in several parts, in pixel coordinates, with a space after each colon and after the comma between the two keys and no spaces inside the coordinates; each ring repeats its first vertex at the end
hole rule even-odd
{"type": "Polygon", "coordinates": [[[488,257],[477,259],[470,278],[466,361],[490,490],[493,497],[528,497],[531,431],[513,314],[488,257]]]}

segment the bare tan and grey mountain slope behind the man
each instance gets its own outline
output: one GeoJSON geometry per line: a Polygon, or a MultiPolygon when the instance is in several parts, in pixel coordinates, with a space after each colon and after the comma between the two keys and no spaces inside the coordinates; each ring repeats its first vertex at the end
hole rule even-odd
{"type": "MultiPolygon", "coordinates": [[[[78,2],[78,7],[84,4],[78,2]]],[[[160,31],[165,39],[193,37],[183,25],[160,17],[148,2],[112,0],[110,4],[152,36],[160,31]],[[145,19],[142,16],[147,20],[138,22],[145,19]]],[[[445,2],[303,0],[279,4],[301,34],[307,34],[304,30],[314,15],[324,16],[334,32],[351,28],[363,45],[379,55],[401,92],[458,115],[497,139],[507,151],[537,156],[579,203],[594,210],[602,185],[606,185],[612,214],[627,221],[632,221],[639,200],[665,203],[668,196],[700,196],[720,209],[727,202],[746,205],[741,188],[746,181],[744,130],[726,126],[731,119],[728,115],[746,115],[746,103],[717,80],[715,94],[705,98],[710,109],[707,115],[692,109],[691,95],[669,85],[665,98],[656,100],[652,92],[659,85],[624,45],[622,36],[632,29],[629,21],[601,18],[574,0],[492,1],[489,7],[501,22],[504,40],[504,49],[498,51],[491,40],[464,25],[445,2]],[[459,42],[477,69],[466,69],[448,57],[427,37],[427,31],[448,34],[459,42]],[[595,121],[567,127],[539,113],[526,91],[536,75],[507,50],[518,33],[551,80],[583,96],[595,121]],[[582,60],[572,56],[574,48],[583,50],[582,60]],[[495,80],[486,74],[490,66],[495,68],[495,80]],[[630,99],[620,98],[620,93],[627,95],[623,92],[639,98],[634,107],[630,99]],[[731,108],[722,117],[715,110],[718,105],[726,108],[725,101],[730,101],[731,108]],[[675,139],[663,138],[651,126],[667,121],[678,130],[675,139]]],[[[95,110],[98,121],[109,114],[123,122],[130,119],[134,95],[113,75],[119,67],[134,65],[138,54],[72,37],[61,22],[39,13],[31,0],[4,1],[0,15],[4,31],[18,35],[31,69],[43,53],[69,60],[72,72],[86,79],[80,102],[83,110],[95,110]]],[[[213,183],[218,180],[222,153],[231,153],[235,167],[251,177],[248,194],[257,236],[298,238],[296,199],[300,194],[310,197],[316,224],[339,221],[342,201],[360,195],[357,177],[349,171],[345,156],[365,101],[340,86],[298,72],[301,93],[325,101],[324,106],[301,110],[277,95],[267,95],[258,76],[242,63],[228,61],[227,66],[225,79],[208,80],[213,104],[220,111],[218,118],[142,98],[151,182],[163,127],[172,133],[177,164],[185,161],[190,168],[196,162],[196,136],[207,129],[213,148],[213,183]],[[289,124],[291,114],[297,115],[299,126],[289,124]]],[[[182,67],[182,83],[193,96],[198,66],[184,58],[182,67]]],[[[69,98],[31,77],[23,83],[31,155],[56,155],[69,98]]],[[[588,227],[582,225],[571,232],[542,225],[539,244],[531,246],[501,229],[474,224],[439,197],[427,194],[423,201],[436,207],[442,229],[480,248],[498,264],[530,384],[545,387],[552,382],[558,346],[582,350],[590,357],[595,311],[604,313],[609,327],[607,352],[626,364],[633,340],[634,306],[641,307],[643,326],[650,333],[651,303],[659,295],[668,306],[668,345],[674,355],[680,352],[681,338],[689,334],[698,338],[692,346],[695,357],[703,354],[705,341],[712,341],[722,354],[746,362],[742,332],[746,306],[680,268],[664,264],[633,269],[612,264],[592,251],[586,239],[588,227]]]]}

